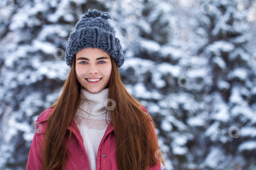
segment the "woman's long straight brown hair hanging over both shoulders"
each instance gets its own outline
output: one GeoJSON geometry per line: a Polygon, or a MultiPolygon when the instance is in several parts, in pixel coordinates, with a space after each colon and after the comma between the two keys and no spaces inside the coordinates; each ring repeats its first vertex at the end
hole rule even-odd
{"type": "MultiPolygon", "coordinates": [[[[119,76],[118,66],[115,60],[112,57],[110,58],[112,71],[107,87],[109,88],[108,99],[113,99],[116,102],[115,109],[110,110],[110,112],[116,137],[119,169],[145,170],[149,165],[158,165],[158,160],[161,160],[165,166],[159,152],[157,152],[157,158],[155,157],[159,147],[158,137],[155,137],[150,123],[152,122],[155,130],[154,121],[149,120],[144,111],[139,108],[142,104],[127,92],[119,76]]],[[[64,169],[66,165],[67,146],[70,142],[72,130],[69,133],[67,145],[65,145],[64,136],[80,104],[81,85],[76,78],[75,66],[74,57],[69,76],[61,88],[63,92],[52,105],[55,107],[46,125],[45,137],[47,137],[47,140],[44,138],[43,168],[47,170],[64,169]]]]}

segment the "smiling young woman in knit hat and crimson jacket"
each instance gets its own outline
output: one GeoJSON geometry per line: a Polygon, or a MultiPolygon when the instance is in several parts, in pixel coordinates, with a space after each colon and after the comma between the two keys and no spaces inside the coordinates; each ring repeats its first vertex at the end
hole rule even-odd
{"type": "MultiPolygon", "coordinates": [[[[125,58],[104,15],[88,10],[67,42],[59,99],[35,121],[27,169],[153,170],[164,161],[155,123],[125,89],[125,58]]],[[[106,13],[107,14],[107,13],[106,13]]]]}

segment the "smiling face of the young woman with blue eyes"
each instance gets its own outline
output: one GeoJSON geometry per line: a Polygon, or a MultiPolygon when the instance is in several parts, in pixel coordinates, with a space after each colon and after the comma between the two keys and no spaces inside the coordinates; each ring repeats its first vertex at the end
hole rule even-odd
{"type": "Polygon", "coordinates": [[[91,93],[105,88],[112,69],[110,56],[102,49],[91,47],[78,51],[75,56],[78,82],[91,93]]]}

